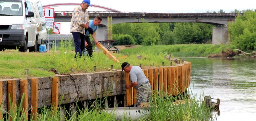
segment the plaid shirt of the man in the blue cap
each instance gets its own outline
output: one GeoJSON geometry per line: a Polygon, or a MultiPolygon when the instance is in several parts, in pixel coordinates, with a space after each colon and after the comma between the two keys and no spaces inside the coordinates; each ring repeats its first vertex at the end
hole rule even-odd
{"type": "Polygon", "coordinates": [[[81,24],[86,24],[89,22],[89,13],[88,11],[84,11],[79,5],[73,10],[71,23],[70,23],[70,33],[71,32],[80,32],[85,34],[85,28],[80,26],[81,24]]]}

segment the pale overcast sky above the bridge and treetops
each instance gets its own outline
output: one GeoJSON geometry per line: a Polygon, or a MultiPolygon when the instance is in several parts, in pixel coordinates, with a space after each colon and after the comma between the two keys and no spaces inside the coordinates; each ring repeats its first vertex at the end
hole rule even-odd
{"type": "MultiPolygon", "coordinates": [[[[82,0],[41,0],[42,5],[54,3],[81,3],[82,0]]],[[[91,0],[91,4],[105,6],[125,12],[199,13],[256,9],[255,0],[91,0]]],[[[73,6],[58,7],[56,10],[72,11],[73,6]]],[[[55,10],[55,11],[56,11],[55,10]]],[[[101,11],[89,7],[89,11],[101,11]]]]}

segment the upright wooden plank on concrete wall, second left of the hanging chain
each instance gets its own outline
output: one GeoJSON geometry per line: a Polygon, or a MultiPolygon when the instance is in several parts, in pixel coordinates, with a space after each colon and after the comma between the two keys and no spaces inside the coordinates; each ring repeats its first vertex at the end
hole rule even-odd
{"type": "Polygon", "coordinates": [[[33,120],[36,119],[37,112],[37,104],[38,104],[38,79],[31,79],[31,116],[33,116],[33,120]]]}

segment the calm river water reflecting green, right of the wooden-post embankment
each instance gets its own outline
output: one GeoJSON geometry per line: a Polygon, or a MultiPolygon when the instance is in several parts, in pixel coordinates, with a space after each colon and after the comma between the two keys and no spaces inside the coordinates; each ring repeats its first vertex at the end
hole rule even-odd
{"type": "Polygon", "coordinates": [[[256,59],[185,58],[190,90],[219,98],[217,121],[256,121],[256,59]]]}

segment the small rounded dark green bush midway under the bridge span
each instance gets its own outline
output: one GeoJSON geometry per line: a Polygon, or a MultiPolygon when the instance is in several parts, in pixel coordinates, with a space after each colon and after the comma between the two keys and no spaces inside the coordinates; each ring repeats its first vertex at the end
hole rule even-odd
{"type": "Polygon", "coordinates": [[[162,36],[161,44],[172,45],[176,41],[177,41],[177,38],[176,38],[174,32],[167,30],[164,32],[164,34],[162,36]]]}

